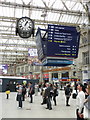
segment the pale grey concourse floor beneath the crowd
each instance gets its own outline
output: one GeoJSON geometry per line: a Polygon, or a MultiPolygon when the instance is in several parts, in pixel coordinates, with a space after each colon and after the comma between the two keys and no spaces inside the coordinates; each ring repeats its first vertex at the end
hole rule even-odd
{"type": "Polygon", "coordinates": [[[23,102],[23,108],[17,108],[16,93],[10,94],[10,99],[6,99],[5,93],[0,93],[0,116],[2,118],[75,118],[76,100],[70,99],[70,107],[65,106],[64,91],[60,91],[57,97],[57,106],[52,102],[52,110],[45,109],[46,105],[41,105],[42,97],[34,96],[34,103],[29,103],[29,98],[23,102]],[[2,111],[1,111],[2,108],[2,111]]]}

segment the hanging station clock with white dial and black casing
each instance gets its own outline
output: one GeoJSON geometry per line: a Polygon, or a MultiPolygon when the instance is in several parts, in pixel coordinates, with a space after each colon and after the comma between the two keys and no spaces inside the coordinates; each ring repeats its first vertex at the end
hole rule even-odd
{"type": "Polygon", "coordinates": [[[34,22],[29,17],[17,20],[18,34],[22,38],[29,38],[34,31],[34,22]]]}

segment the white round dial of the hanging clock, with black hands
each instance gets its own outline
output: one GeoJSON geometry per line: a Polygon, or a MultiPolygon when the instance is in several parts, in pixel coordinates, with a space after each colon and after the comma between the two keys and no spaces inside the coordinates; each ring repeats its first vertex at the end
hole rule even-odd
{"type": "Polygon", "coordinates": [[[21,31],[31,31],[33,28],[33,21],[28,17],[22,17],[18,21],[18,29],[21,31]]]}

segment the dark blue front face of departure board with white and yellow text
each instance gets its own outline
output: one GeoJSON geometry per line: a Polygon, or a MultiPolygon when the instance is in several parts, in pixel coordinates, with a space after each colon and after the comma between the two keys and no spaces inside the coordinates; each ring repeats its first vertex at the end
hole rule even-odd
{"type": "Polygon", "coordinates": [[[76,27],[48,25],[47,56],[78,57],[80,33],[76,27]]]}

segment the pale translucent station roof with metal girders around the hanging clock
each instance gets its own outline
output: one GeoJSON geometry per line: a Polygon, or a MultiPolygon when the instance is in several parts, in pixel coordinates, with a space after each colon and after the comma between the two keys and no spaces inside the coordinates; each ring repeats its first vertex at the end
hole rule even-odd
{"type": "Polygon", "coordinates": [[[27,16],[35,20],[35,33],[38,27],[45,29],[48,24],[88,23],[87,16],[82,19],[86,11],[80,0],[0,0],[0,11],[0,50],[5,50],[0,55],[13,55],[16,50],[23,55],[24,50],[36,45],[34,38],[16,36],[17,18],[27,16]]]}

